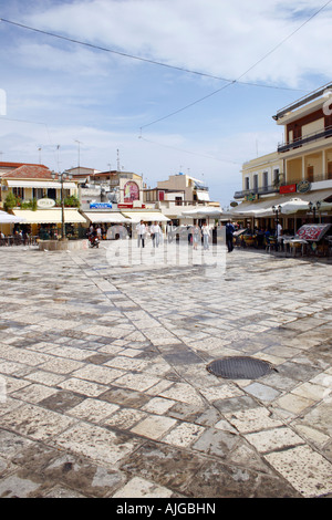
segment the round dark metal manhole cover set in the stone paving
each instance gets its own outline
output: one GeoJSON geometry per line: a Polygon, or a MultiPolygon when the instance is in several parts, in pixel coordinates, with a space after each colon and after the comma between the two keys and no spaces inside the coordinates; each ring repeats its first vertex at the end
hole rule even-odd
{"type": "Polygon", "coordinates": [[[270,363],[255,357],[235,356],[212,361],[207,370],[226,379],[257,379],[273,370],[270,363]]]}

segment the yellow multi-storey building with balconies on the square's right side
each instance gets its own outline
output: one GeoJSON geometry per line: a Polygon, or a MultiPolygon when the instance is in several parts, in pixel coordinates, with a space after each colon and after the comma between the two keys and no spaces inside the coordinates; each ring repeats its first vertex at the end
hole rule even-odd
{"type": "MultiPolygon", "coordinates": [[[[235,215],[258,219],[267,216],[268,208],[297,199],[298,211],[286,216],[280,210],[284,229],[295,231],[315,218],[332,222],[331,92],[332,85],[326,85],[277,112],[273,119],[283,126],[283,143],[243,164],[242,189],[235,194],[241,204],[235,215]]],[[[274,218],[269,225],[274,228],[274,218]]]]}

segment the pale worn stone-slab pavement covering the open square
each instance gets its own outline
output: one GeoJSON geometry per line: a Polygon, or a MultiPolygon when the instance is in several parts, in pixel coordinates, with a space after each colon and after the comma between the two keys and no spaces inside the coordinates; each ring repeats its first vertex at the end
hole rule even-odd
{"type": "Polygon", "coordinates": [[[332,266],[114,243],[0,250],[0,497],[331,497],[332,266]],[[239,355],[273,370],[207,370],[239,355]]]}

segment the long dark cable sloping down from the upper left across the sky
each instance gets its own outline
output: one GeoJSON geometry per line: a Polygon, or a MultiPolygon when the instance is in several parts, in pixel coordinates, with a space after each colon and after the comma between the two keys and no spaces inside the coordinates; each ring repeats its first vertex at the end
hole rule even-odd
{"type": "MultiPolygon", "coordinates": [[[[19,27],[21,29],[27,29],[29,31],[38,32],[40,34],[44,34],[44,35],[48,35],[48,37],[58,38],[60,40],[64,40],[64,41],[68,41],[68,42],[71,42],[71,43],[75,43],[77,45],[84,45],[84,46],[89,46],[89,48],[94,49],[94,50],[117,54],[122,58],[128,58],[131,60],[138,60],[138,61],[149,63],[149,64],[153,64],[153,65],[164,66],[164,67],[167,67],[167,69],[173,69],[175,71],[186,72],[188,74],[199,75],[199,76],[203,76],[203,77],[210,77],[212,80],[225,81],[225,82],[228,82],[228,83],[234,82],[234,80],[228,80],[226,77],[220,77],[220,76],[217,76],[217,75],[214,75],[214,74],[209,74],[207,72],[193,71],[190,69],[186,69],[186,67],[183,67],[183,66],[170,65],[169,63],[164,63],[164,62],[159,62],[159,61],[156,61],[156,60],[149,60],[147,58],[142,58],[142,56],[136,56],[134,54],[128,54],[126,52],[115,51],[114,49],[108,49],[108,48],[105,48],[105,46],[96,45],[96,44],[84,42],[84,41],[81,41],[81,40],[75,40],[73,38],[63,37],[61,34],[55,34],[53,32],[43,31],[42,29],[32,28],[32,27],[25,25],[23,23],[13,22],[12,20],[7,20],[4,18],[0,18],[0,21],[4,22],[4,23],[9,23],[11,25],[19,27]]],[[[260,83],[239,82],[238,80],[236,80],[236,81],[238,83],[241,83],[241,84],[245,84],[245,85],[258,86],[258,87],[262,87],[262,89],[277,89],[277,90],[286,90],[286,91],[293,91],[293,92],[303,92],[300,89],[291,89],[291,87],[281,86],[281,85],[266,85],[266,84],[260,84],[260,83]]]]}

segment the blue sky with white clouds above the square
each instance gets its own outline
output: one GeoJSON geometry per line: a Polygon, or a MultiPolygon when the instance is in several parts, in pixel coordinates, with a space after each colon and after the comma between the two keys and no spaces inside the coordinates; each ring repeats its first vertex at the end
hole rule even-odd
{"type": "Polygon", "coordinates": [[[332,80],[332,0],[0,0],[0,160],[181,171],[222,207],[282,141],[272,115],[332,80]]]}

